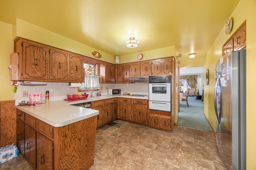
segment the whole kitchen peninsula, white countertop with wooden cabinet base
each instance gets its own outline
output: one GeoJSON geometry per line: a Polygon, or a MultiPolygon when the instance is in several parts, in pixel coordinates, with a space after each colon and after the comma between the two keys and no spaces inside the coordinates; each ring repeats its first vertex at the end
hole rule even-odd
{"type": "Polygon", "coordinates": [[[17,108],[17,144],[34,169],[88,169],[99,111],[53,101],[17,108]]]}

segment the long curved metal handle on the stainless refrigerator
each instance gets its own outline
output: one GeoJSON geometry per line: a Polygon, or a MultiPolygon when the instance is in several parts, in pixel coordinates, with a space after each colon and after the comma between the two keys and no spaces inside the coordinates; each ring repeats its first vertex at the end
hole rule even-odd
{"type": "Polygon", "coordinates": [[[221,97],[222,97],[222,87],[221,87],[220,75],[218,75],[215,88],[214,88],[214,109],[215,109],[216,118],[219,124],[222,116],[221,115],[221,97]]]}

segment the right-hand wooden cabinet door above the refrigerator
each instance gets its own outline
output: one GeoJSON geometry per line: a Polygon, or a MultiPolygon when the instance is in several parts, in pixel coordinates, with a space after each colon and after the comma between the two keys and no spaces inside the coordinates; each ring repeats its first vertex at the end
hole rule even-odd
{"type": "Polygon", "coordinates": [[[234,51],[244,49],[246,47],[246,24],[234,35],[234,51]]]}

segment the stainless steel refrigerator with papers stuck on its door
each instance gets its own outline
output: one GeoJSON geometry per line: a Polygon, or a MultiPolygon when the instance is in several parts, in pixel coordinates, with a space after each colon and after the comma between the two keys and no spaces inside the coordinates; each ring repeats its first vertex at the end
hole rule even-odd
{"type": "Polygon", "coordinates": [[[246,170],[246,50],[221,57],[215,76],[216,144],[228,170],[246,170]]]}

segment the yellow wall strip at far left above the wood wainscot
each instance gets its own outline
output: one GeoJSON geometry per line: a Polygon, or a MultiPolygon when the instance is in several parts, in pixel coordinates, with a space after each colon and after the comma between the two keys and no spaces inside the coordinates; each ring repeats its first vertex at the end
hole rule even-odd
{"type": "Polygon", "coordinates": [[[13,52],[12,25],[0,21],[0,37],[0,101],[14,100],[8,68],[13,52]]]}

